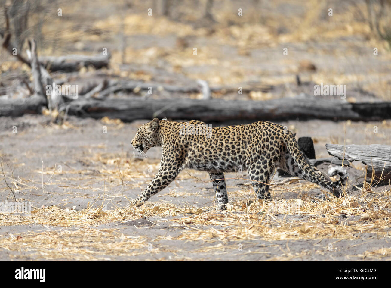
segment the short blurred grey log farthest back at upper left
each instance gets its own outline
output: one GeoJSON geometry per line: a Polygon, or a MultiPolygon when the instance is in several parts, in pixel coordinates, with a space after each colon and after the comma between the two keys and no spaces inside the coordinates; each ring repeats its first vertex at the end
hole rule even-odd
{"type": "Polygon", "coordinates": [[[69,56],[44,56],[39,57],[39,62],[49,71],[74,72],[82,67],[94,67],[100,69],[108,67],[110,55],[98,54],[95,56],[69,55],[69,56]]]}

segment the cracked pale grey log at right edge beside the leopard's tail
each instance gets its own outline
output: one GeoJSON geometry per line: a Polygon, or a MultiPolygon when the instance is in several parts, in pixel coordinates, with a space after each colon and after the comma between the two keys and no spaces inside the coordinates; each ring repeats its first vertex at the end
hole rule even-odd
{"type": "Polygon", "coordinates": [[[368,165],[368,176],[375,170],[375,176],[391,178],[391,146],[389,145],[337,145],[326,144],[328,154],[352,161],[361,161],[368,165]],[[345,149],[346,147],[346,149],[345,149]]]}

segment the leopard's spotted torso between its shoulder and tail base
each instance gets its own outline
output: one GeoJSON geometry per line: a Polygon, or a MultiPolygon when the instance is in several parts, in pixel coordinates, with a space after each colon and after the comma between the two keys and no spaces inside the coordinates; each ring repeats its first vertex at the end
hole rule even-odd
{"type": "MultiPolygon", "coordinates": [[[[189,123],[208,127],[201,121],[189,123]]],[[[207,133],[199,134],[191,134],[189,129],[190,133],[185,135],[185,168],[237,172],[247,169],[249,155],[257,154],[261,149],[264,149],[264,153],[272,155],[283,143],[280,131],[284,128],[271,122],[258,121],[248,125],[208,128],[210,130],[205,129],[207,133]]]]}

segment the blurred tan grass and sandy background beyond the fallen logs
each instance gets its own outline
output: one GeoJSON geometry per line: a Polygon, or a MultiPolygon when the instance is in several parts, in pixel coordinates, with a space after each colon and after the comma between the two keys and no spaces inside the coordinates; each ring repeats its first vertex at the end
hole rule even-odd
{"type": "MultiPolygon", "coordinates": [[[[1,35],[8,13],[20,53],[31,37],[40,56],[107,48],[106,75],[149,81],[171,73],[209,85],[255,87],[244,96],[213,94],[227,99],[311,94],[314,83],[323,82],[347,85],[351,102],[391,100],[390,0],[1,0],[0,9],[1,35]],[[295,85],[298,74],[307,87],[295,85]]],[[[0,87],[30,77],[27,65],[0,53],[0,87]]]]}

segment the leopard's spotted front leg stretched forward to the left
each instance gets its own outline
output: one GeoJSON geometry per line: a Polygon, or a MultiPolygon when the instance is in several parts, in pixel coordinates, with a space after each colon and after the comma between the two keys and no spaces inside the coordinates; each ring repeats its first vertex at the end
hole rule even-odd
{"type": "MultiPolygon", "coordinates": [[[[180,156],[180,154],[174,154],[174,155],[180,156]]],[[[143,203],[147,201],[152,195],[163,190],[172,181],[174,181],[176,176],[178,176],[179,172],[181,171],[181,167],[182,167],[182,161],[180,158],[173,160],[172,158],[165,156],[163,150],[163,155],[160,161],[160,169],[158,174],[156,174],[156,176],[152,179],[151,183],[148,184],[144,192],[136,199],[131,200],[126,205],[126,207],[130,207],[133,205],[139,207],[143,205],[143,203]],[[170,161],[168,161],[167,158],[170,159],[170,161]]]]}

